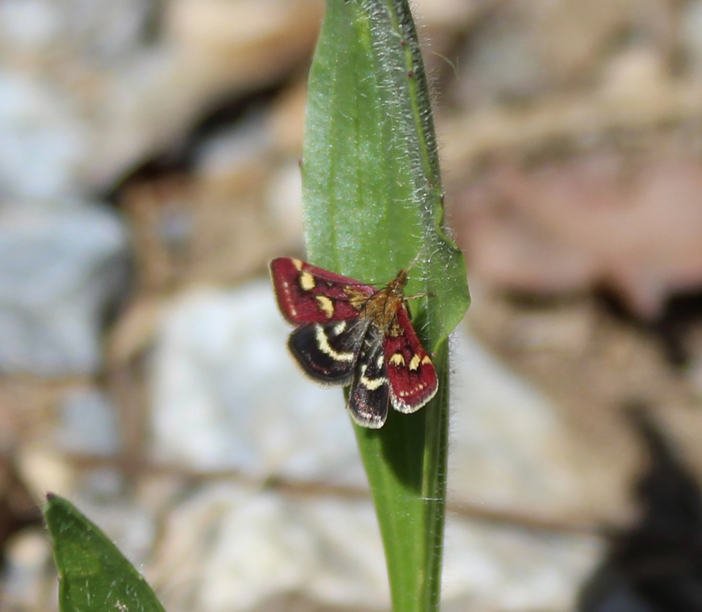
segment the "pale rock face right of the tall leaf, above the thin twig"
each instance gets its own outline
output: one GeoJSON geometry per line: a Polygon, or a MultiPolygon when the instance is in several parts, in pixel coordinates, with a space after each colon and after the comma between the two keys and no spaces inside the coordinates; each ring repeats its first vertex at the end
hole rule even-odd
{"type": "Polygon", "coordinates": [[[451,497],[548,517],[577,508],[578,472],[555,406],[465,327],[452,347],[451,497]]]}

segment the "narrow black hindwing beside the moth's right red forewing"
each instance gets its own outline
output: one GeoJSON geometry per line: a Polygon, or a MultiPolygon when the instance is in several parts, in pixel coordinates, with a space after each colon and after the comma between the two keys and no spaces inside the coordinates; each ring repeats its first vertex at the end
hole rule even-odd
{"type": "Polygon", "coordinates": [[[347,408],[357,425],[378,429],[388,418],[389,400],[383,337],[369,326],[356,362],[347,408]]]}

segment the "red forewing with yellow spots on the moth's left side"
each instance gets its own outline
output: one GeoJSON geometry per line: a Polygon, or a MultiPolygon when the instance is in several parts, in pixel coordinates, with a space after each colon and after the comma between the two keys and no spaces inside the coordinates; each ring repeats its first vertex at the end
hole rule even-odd
{"type": "Polygon", "coordinates": [[[291,325],[358,317],[360,305],[350,299],[349,288],[362,298],[376,292],[370,285],[290,257],[272,260],[269,268],[278,307],[291,325]]]}

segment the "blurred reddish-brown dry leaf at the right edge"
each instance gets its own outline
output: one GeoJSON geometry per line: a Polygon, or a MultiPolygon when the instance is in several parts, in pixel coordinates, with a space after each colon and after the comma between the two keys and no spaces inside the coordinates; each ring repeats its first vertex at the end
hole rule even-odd
{"type": "Polygon", "coordinates": [[[657,159],[630,167],[594,152],[527,172],[498,163],[456,212],[471,273],[522,291],[604,284],[644,318],[675,291],[702,286],[702,167],[657,159]]]}

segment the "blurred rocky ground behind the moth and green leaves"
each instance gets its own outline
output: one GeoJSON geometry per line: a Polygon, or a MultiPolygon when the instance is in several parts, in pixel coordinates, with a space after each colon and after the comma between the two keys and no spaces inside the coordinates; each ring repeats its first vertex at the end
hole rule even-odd
{"type": "MultiPolygon", "coordinates": [[[[702,610],[702,1],[415,5],[473,297],[444,611],[702,610]]],[[[170,612],[388,609],[267,279],[323,9],[0,0],[1,610],[57,607],[46,491],[170,612]]]]}

